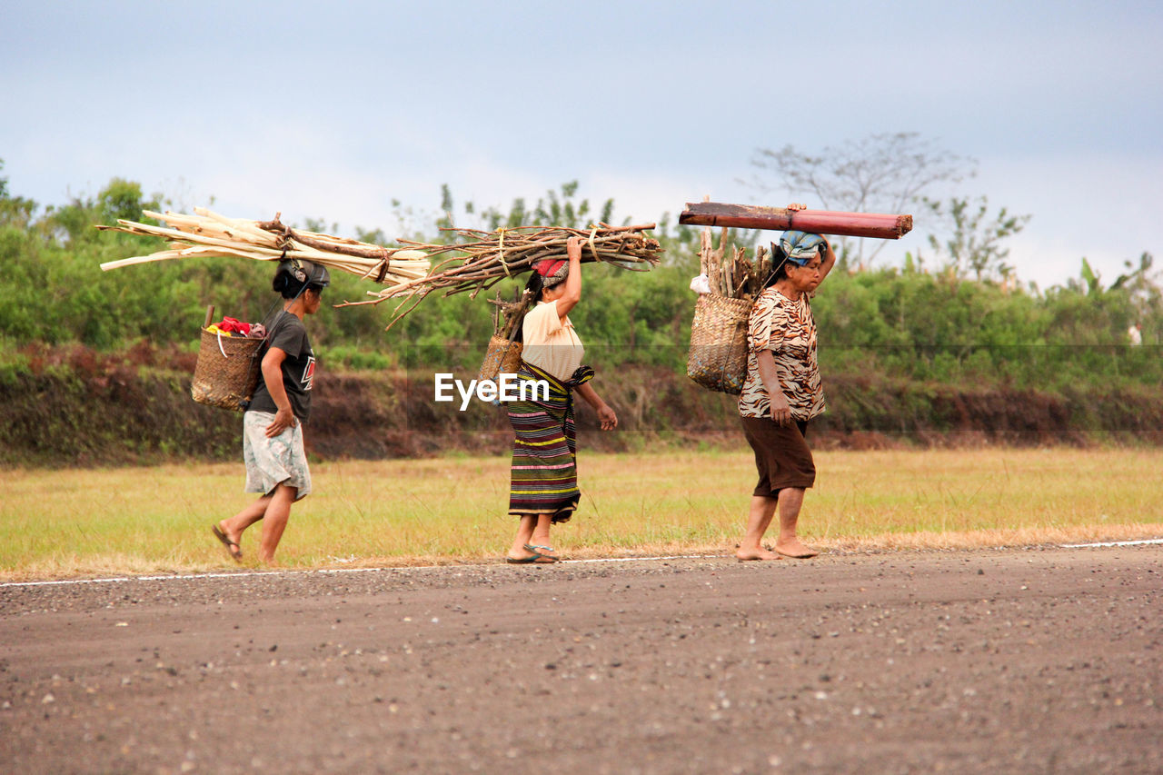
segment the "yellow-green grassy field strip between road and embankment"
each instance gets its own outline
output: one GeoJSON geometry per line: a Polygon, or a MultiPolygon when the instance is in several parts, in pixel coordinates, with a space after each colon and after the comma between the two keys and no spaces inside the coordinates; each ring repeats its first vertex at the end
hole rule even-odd
{"type": "MultiPolygon", "coordinates": [[[[1163,536],[1163,450],[821,452],[800,532],[825,550],[1163,536]]],[[[742,529],[749,453],[582,453],[571,557],[721,554],[742,529]]],[[[499,560],[505,457],[320,463],[279,547],[290,568],[499,560]]],[[[0,578],[236,568],[211,535],[254,496],[242,465],[0,471],[0,578]]],[[[259,526],[243,541],[247,562],[259,526]]]]}

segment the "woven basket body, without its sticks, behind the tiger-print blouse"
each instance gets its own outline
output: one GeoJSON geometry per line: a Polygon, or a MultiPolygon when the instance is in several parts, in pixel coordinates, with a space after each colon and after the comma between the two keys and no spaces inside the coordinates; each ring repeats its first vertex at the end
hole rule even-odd
{"type": "Polygon", "coordinates": [[[686,376],[707,390],[737,396],[747,379],[748,299],[702,293],[694,305],[686,376]]]}

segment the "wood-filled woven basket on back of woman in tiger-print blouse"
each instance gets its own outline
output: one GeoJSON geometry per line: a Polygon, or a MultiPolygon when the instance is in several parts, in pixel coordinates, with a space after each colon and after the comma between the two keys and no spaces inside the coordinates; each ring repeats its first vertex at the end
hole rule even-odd
{"type": "Polygon", "coordinates": [[[702,290],[711,292],[700,293],[694,305],[686,376],[707,390],[737,396],[747,379],[748,319],[770,273],[770,262],[764,262],[762,247],[756,249],[754,264],[743,248],[732,247],[728,255],[727,236],[723,229],[714,249],[711,229],[701,234],[702,290]]]}

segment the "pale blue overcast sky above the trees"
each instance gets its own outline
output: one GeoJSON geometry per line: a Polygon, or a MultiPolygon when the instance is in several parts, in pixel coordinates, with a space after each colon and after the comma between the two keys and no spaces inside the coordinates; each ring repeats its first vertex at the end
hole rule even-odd
{"type": "MultiPolygon", "coordinates": [[[[505,207],[577,179],[621,220],[761,192],[758,148],[916,131],[935,195],[1033,215],[1018,276],[1163,258],[1163,3],[53,2],[0,7],[0,172],[41,204],[115,176],[237,218],[395,236],[392,200],[505,207]]],[[[773,185],[775,180],[771,182],[773,185]]],[[[899,262],[937,225],[882,253],[899,262]]]]}

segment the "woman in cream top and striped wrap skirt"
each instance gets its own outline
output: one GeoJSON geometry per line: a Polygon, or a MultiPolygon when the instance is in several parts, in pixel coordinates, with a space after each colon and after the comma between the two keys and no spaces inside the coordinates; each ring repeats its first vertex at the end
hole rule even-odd
{"type": "Polygon", "coordinates": [[[577,482],[573,392],[598,413],[602,431],[618,425],[614,410],[588,384],[593,369],[582,365],[585,348],[569,312],[582,299],[583,237],[570,237],[564,259],[534,266],[528,290],[537,301],[521,326],[522,382],[544,381],[548,396],[508,405],[513,440],[509,513],[520,518],[507,561],[519,564],[558,562],[549,528],[573,514],[582,492],[577,482]]]}

